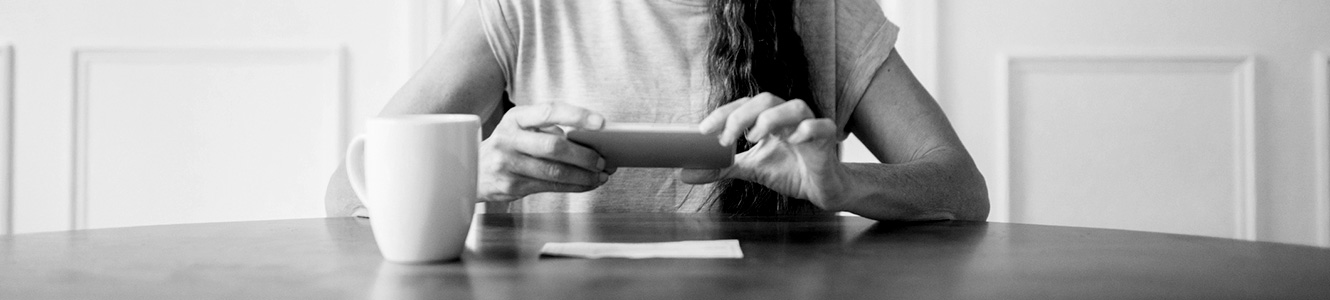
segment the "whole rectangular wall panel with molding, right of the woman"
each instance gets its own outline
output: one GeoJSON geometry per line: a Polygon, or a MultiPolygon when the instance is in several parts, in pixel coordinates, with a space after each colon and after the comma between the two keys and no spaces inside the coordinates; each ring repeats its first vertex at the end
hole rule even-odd
{"type": "Polygon", "coordinates": [[[1250,60],[1028,56],[1008,68],[1012,222],[1249,238],[1250,60]]]}

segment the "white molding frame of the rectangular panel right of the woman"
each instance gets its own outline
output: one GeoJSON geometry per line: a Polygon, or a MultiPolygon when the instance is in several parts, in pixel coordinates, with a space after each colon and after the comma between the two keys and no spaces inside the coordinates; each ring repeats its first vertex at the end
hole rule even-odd
{"type": "Polygon", "coordinates": [[[1233,185],[1237,188],[1233,199],[1234,228],[1233,238],[1256,240],[1256,57],[1246,53],[1210,53],[1210,52],[1032,52],[1008,53],[998,57],[998,104],[996,104],[996,171],[998,177],[990,186],[992,192],[992,210],[990,219],[1011,222],[1015,202],[1012,200],[1012,137],[1011,137],[1011,106],[1016,68],[1023,62],[1162,62],[1162,64],[1189,64],[1189,62],[1218,62],[1230,64],[1234,86],[1233,104],[1234,119],[1234,166],[1237,174],[1233,185]]]}

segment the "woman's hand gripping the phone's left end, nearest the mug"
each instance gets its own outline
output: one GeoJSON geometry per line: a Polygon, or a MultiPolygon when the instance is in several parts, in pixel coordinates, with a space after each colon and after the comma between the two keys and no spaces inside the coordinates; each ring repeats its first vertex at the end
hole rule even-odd
{"type": "Polygon", "coordinates": [[[476,198],[509,202],[536,192],[591,191],[614,170],[596,150],[569,142],[563,129],[600,130],[605,117],[572,105],[516,106],[480,142],[476,198]]]}

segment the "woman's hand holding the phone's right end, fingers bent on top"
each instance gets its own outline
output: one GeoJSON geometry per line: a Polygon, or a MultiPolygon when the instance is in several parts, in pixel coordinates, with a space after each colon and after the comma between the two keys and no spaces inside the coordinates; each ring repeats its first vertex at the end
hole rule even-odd
{"type": "Polygon", "coordinates": [[[741,135],[757,145],[735,155],[730,167],[682,170],[684,182],[742,179],[838,210],[845,170],[835,122],[813,118],[802,100],[785,101],[770,93],[742,98],[717,108],[698,127],[705,134],[720,133],[721,145],[733,145],[741,135]]]}

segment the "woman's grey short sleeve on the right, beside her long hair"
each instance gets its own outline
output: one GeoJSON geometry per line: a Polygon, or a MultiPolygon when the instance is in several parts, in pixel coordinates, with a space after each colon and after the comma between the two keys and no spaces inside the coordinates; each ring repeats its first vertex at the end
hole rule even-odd
{"type": "Polygon", "coordinates": [[[891,56],[900,28],[871,0],[837,1],[835,19],[835,122],[846,130],[878,68],[891,56]]]}

